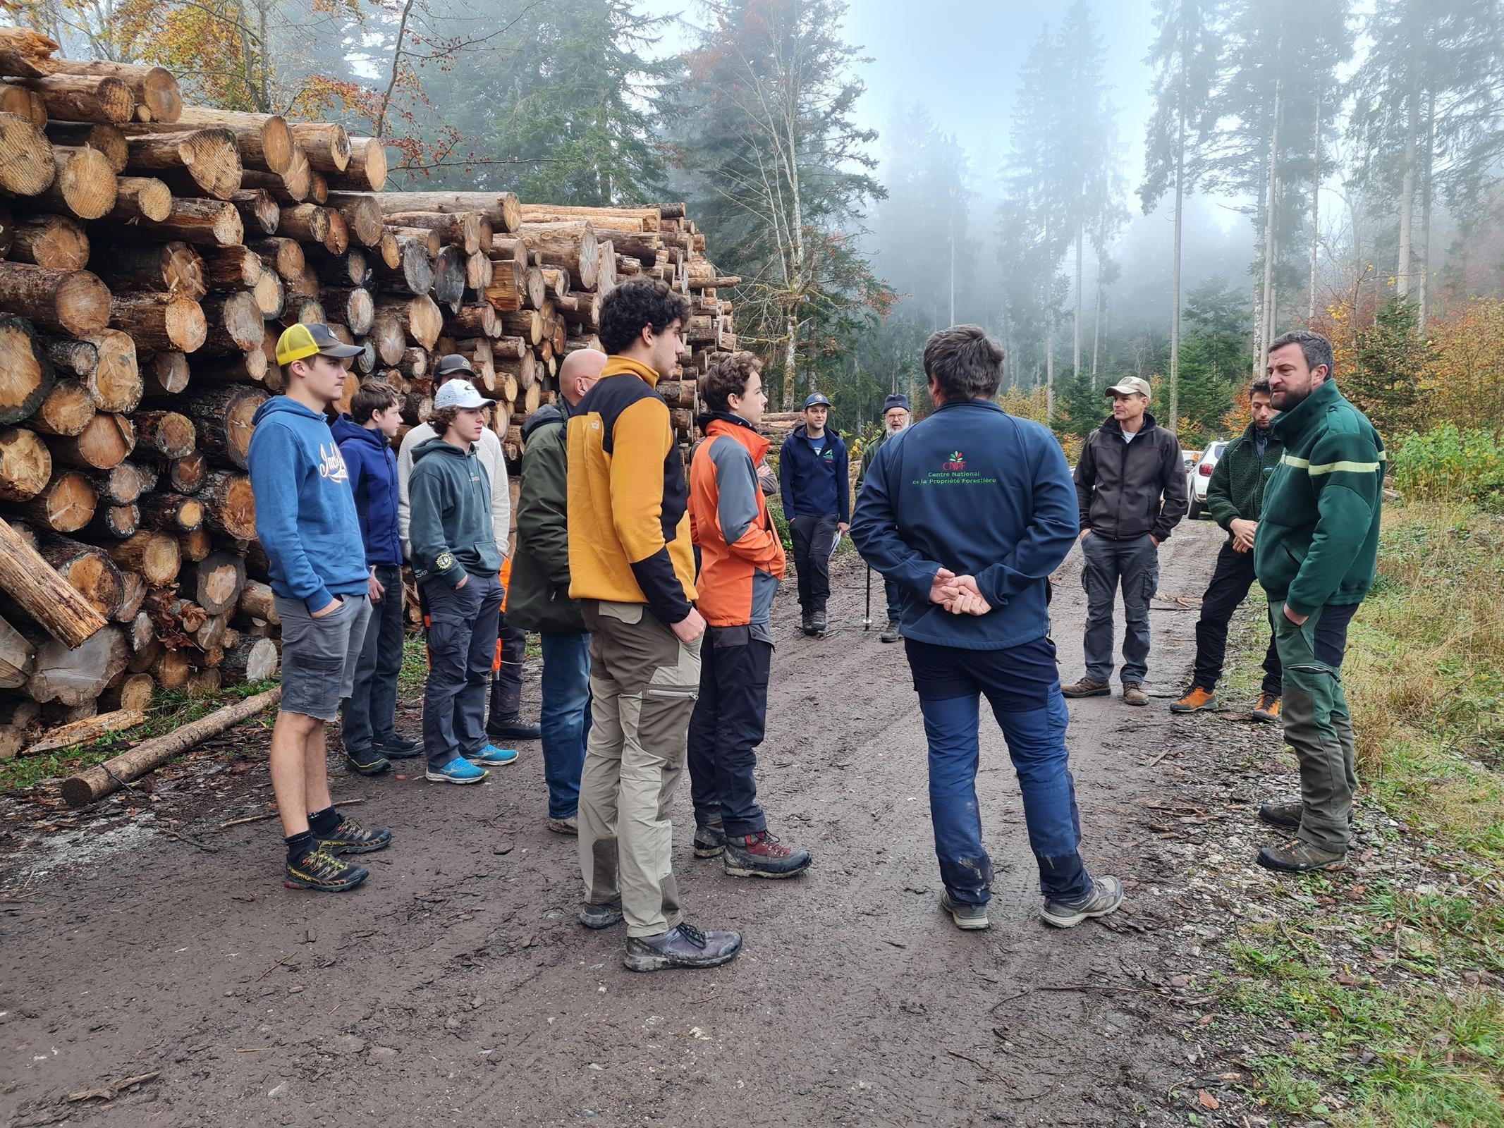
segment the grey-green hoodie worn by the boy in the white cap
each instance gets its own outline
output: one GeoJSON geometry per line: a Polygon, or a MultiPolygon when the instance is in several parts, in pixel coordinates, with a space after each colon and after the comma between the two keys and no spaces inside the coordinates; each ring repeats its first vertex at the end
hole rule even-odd
{"type": "Polygon", "coordinates": [[[490,481],[475,457],[429,439],[412,454],[408,480],[412,572],[420,582],[442,579],[457,588],[468,573],[495,576],[501,550],[490,520],[490,481]]]}

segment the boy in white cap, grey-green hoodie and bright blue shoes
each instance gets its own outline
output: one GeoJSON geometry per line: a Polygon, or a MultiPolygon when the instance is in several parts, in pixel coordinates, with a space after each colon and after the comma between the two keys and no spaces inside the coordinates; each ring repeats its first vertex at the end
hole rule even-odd
{"type": "Polygon", "coordinates": [[[427,779],[478,784],[480,764],[510,764],[516,749],[486,738],[486,690],[501,629],[501,547],[490,516],[490,478],[477,457],[486,409],[469,381],[433,397],[438,438],[412,456],[408,501],[412,570],[429,603],[429,683],[423,690],[427,779]]]}

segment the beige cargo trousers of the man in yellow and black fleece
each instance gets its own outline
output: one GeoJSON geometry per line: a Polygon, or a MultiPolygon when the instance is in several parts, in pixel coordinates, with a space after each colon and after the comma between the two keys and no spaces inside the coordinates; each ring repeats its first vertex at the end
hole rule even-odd
{"type": "Polygon", "coordinates": [[[582,600],[591,728],[579,779],[585,901],[621,901],[627,935],[677,928],[669,808],[699,696],[699,644],[680,642],[642,603],[582,600]]]}

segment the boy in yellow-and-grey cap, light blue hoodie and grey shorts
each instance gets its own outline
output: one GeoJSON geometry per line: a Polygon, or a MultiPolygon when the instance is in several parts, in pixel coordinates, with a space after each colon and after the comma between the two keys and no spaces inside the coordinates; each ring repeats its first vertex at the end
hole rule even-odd
{"type": "Polygon", "coordinates": [[[287,391],[253,420],[256,537],[283,626],[283,696],[269,760],[289,889],[353,889],[368,871],[340,854],[391,845],[390,830],[362,827],[334,808],[323,740],[325,722],[353,687],[371,611],[349,471],[323,417],[344,391],[341,361],[356,353],[322,325],[293,325],[277,341],[287,391]]]}

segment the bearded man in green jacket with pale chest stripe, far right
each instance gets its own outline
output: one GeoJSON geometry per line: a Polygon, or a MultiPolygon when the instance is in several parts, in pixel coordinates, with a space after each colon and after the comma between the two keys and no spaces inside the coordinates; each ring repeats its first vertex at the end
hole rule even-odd
{"type": "Polygon", "coordinates": [[[1269,388],[1284,453],[1263,490],[1253,562],[1284,665],[1284,741],[1299,760],[1301,800],[1259,809],[1265,823],[1295,832],[1260,850],[1259,865],[1340,869],[1358,787],[1342,659],[1378,569],[1384,441],[1337,391],[1331,341],[1321,334],[1274,340],[1269,388]]]}

